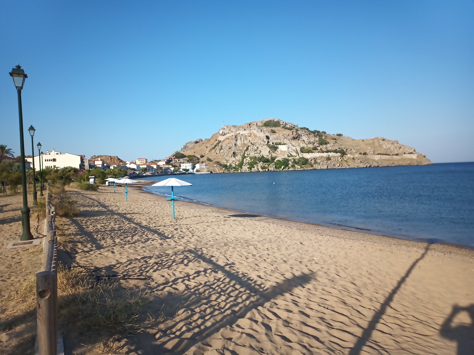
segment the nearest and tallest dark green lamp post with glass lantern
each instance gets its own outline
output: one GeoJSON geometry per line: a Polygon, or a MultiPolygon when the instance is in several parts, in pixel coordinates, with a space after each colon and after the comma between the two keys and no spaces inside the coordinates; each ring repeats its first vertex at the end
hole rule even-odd
{"type": "Polygon", "coordinates": [[[27,78],[25,71],[21,69],[18,64],[15,68],[9,73],[13,78],[15,83],[15,88],[17,88],[18,93],[18,118],[20,121],[20,152],[21,152],[21,186],[23,189],[23,208],[21,209],[21,225],[23,226],[23,232],[21,233],[20,240],[32,240],[33,235],[30,231],[29,223],[29,213],[30,209],[28,207],[28,195],[27,195],[27,174],[25,166],[25,142],[23,140],[23,111],[21,108],[21,89],[23,89],[23,84],[27,78]]]}

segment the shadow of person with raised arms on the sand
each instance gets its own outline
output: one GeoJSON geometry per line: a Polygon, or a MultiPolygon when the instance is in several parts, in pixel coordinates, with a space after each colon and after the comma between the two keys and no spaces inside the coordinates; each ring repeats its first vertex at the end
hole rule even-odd
{"type": "Polygon", "coordinates": [[[474,354],[474,303],[467,307],[453,306],[451,314],[441,326],[441,336],[457,342],[457,355],[474,354]],[[471,324],[453,326],[454,318],[461,312],[467,312],[471,324]]]}

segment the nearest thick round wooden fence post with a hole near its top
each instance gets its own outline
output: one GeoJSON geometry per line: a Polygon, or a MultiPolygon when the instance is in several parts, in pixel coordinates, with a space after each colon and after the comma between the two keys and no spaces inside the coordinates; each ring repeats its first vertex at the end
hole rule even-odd
{"type": "Polygon", "coordinates": [[[41,271],[36,274],[36,331],[38,355],[57,354],[57,329],[55,329],[54,273],[41,271]]]}

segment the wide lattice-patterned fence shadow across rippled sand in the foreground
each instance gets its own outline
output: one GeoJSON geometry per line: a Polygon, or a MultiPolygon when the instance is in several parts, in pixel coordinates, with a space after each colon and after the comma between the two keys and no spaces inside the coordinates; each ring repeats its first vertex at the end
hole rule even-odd
{"type": "Polygon", "coordinates": [[[120,275],[169,275],[173,269],[173,275],[178,275],[172,279],[163,276],[163,282],[149,286],[154,297],[147,302],[147,308],[162,308],[165,321],[154,332],[128,339],[126,345],[143,354],[183,354],[266,302],[315,278],[314,274],[295,275],[268,287],[238,271],[233,263],[220,265],[200,249],[142,257],[106,269],[118,270],[120,275]]]}

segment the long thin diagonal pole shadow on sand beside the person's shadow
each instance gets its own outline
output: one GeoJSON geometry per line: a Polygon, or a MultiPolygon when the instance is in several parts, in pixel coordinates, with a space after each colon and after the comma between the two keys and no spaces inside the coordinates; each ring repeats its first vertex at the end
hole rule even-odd
{"type": "Polygon", "coordinates": [[[423,259],[428,254],[429,247],[430,244],[427,244],[423,254],[421,254],[421,256],[411,264],[411,266],[405,272],[405,275],[401,277],[397,285],[389,293],[385,301],[382,303],[380,309],[375,312],[374,316],[369,321],[369,324],[362,332],[362,336],[359,338],[359,340],[357,340],[356,344],[354,344],[354,347],[349,351],[349,355],[359,355],[362,351],[362,348],[367,345],[368,341],[370,340],[370,337],[372,336],[372,332],[374,331],[377,324],[380,322],[380,319],[382,319],[387,307],[390,306],[390,303],[393,301],[393,298],[397,294],[398,290],[400,290],[401,286],[405,283],[407,278],[410,276],[411,272],[413,271],[413,268],[421,261],[421,259],[423,259]]]}

